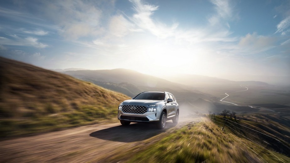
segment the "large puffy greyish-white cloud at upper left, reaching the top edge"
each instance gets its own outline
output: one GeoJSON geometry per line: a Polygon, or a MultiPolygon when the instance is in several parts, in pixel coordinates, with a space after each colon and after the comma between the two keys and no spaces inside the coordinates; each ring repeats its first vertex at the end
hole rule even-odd
{"type": "Polygon", "coordinates": [[[99,34],[102,10],[93,1],[50,1],[41,4],[43,17],[57,24],[66,39],[79,39],[99,34]]]}

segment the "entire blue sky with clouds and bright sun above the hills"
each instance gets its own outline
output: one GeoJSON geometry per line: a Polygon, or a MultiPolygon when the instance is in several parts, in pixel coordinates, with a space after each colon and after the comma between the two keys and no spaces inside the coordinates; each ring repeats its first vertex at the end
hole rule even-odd
{"type": "Polygon", "coordinates": [[[289,77],[290,0],[1,0],[0,56],[46,69],[289,77]]]}

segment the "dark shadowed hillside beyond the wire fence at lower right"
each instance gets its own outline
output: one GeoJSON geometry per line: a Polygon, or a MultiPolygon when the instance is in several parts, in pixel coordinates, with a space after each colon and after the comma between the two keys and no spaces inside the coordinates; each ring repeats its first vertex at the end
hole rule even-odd
{"type": "Polygon", "coordinates": [[[247,114],[241,116],[239,120],[222,116],[213,116],[211,119],[215,124],[224,126],[240,138],[254,141],[284,155],[290,154],[290,128],[287,118],[273,114],[247,114]]]}

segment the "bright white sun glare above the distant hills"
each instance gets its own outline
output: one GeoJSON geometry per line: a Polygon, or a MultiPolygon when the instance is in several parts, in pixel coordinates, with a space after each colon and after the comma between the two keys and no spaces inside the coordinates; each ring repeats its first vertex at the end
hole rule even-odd
{"type": "MultiPolygon", "coordinates": [[[[203,74],[212,71],[212,65],[208,64],[208,50],[202,46],[198,48],[185,47],[166,42],[149,42],[140,49],[145,67],[138,66],[138,70],[150,75],[171,75],[177,73],[203,74]]],[[[130,68],[132,69],[132,68],[130,68]]]]}

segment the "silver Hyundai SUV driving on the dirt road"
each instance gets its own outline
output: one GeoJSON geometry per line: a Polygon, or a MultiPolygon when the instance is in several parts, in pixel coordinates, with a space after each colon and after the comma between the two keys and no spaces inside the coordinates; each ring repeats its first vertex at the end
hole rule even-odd
{"type": "Polygon", "coordinates": [[[131,122],[156,123],[164,129],[166,121],[178,122],[179,105],[169,92],[142,92],[119,105],[118,119],[122,125],[131,122]]]}

